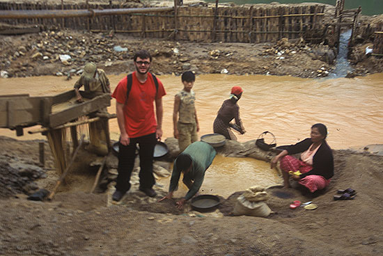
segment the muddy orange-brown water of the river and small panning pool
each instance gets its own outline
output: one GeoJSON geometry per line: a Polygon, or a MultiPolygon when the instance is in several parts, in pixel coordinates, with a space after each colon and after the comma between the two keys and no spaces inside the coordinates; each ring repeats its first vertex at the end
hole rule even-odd
{"type": "MultiPolygon", "coordinates": [[[[112,90],[124,76],[109,76],[112,90]]],[[[174,95],[182,88],[182,83],[180,77],[171,75],[159,76],[159,79],[167,93],[163,98],[164,140],[173,136],[174,95]]],[[[247,133],[236,133],[239,141],[249,141],[258,138],[263,131],[271,131],[277,145],[292,144],[308,137],[311,125],[322,122],[329,130],[327,142],[334,149],[383,144],[382,81],[382,73],[355,79],[199,75],[193,88],[200,123],[198,134],[212,133],[212,123],[221,103],[228,98],[230,88],[242,86],[244,93],[238,104],[247,133]]],[[[63,77],[12,78],[0,79],[0,89],[3,95],[57,95],[71,90],[74,83],[75,79],[66,81],[63,77]]],[[[116,113],[114,99],[108,110],[109,113],[116,113]]],[[[110,120],[109,124],[111,138],[118,140],[117,120],[110,120]]],[[[15,131],[0,129],[0,135],[22,140],[44,138],[40,134],[27,134],[26,131],[28,129],[24,131],[24,136],[16,137],[15,131]]],[[[265,137],[265,141],[268,140],[272,140],[271,136],[265,137]]],[[[201,192],[228,196],[249,186],[268,186],[279,182],[281,178],[276,171],[269,169],[268,163],[217,156],[205,175],[201,192]]],[[[159,183],[169,186],[164,180],[159,183]]]]}

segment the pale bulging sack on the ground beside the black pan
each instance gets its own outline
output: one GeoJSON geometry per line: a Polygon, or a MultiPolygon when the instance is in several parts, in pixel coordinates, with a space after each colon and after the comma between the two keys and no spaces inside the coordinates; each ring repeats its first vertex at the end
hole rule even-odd
{"type": "Polygon", "coordinates": [[[240,195],[237,198],[233,215],[247,215],[257,217],[267,217],[271,214],[272,210],[267,206],[265,202],[250,202],[244,195],[240,195]]]}

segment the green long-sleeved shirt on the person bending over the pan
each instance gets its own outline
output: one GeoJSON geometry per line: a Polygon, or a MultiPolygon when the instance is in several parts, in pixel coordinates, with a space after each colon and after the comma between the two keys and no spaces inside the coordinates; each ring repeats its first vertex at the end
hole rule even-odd
{"type": "MultiPolygon", "coordinates": [[[[192,167],[187,173],[187,176],[194,179],[192,188],[185,195],[185,199],[189,200],[201,188],[205,171],[212,164],[212,161],[217,154],[214,147],[202,141],[196,141],[190,144],[181,154],[188,154],[192,159],[192,167]]],[[[177,169],[174,161],[173,173],[171,173],[171,180],[169,192],[175,191],[180,180],[181,170],[177,169]]]]}

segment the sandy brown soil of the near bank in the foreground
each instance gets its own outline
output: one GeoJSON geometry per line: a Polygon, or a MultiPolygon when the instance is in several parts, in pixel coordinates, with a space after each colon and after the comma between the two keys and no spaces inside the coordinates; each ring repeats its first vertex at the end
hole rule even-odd
{"type": "MultiPolygon", "coordinates": [[[[0,140],[3,157],[38,165],[39,141],[0,140]]],[[[210,213],[157,202],[166,193],[157,186],[155,199],[132,189],[116,205],[109,191],[81,191],[93,183],[94,173],[80,178],[84,171],[77,170],[70,179],[77,189],[67,184],[51,202],[26,200],[23,193],[1,195],[0,254],[381,255],[383,157],[336,150],[334,158],[335,176],[322,193],[267,189],[274,211],[268,218],[231,216],[240,191],[221,198],[210,213]],[[333,200],[337,189],[348,187],[357,190],[354,200],[333,200]],[[313,201],[318,209],[292,210],[293,200],[313,201]]],[[[57,175],[49,151],[46,159],[47,178],[38,185],[52,188],[57,175]]]]}

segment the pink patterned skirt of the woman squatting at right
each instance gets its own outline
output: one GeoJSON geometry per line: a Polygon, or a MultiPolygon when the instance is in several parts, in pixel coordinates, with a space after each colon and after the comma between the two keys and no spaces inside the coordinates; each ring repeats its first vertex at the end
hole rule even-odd
{"type": "MultiPolygon", "coordinates": [[[[304,161],[300,161],[290,155],[287,155],[281,159],[281,170],[283,172],[288,173],[290,170],[293,172],[299,170],[301,173],[307,173],[311,169],[313,169],[313,166],[310,166],[304,161]]],[[[299,184],[306,186],[306,188],[313,193],[318,189],[325,189],[325,187],[330,183],[330,180],[331,179],[325,179],[325,177],[320,175],[308,175],[303,179],[300,179],[299,184]]]]}

